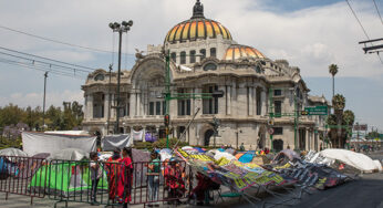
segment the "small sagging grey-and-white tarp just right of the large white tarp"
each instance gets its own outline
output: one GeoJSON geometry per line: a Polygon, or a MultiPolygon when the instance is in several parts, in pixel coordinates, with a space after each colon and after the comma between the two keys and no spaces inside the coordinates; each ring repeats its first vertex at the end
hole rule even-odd
{"type": "Polygon", "coordinates": [[[101,141],[101,146],[103,150],[113,150],[116,147],[123,149],[124,147],[132,146],[131,135],[121,134],[121,135],[107,135],[104,136],[101,141]]]}

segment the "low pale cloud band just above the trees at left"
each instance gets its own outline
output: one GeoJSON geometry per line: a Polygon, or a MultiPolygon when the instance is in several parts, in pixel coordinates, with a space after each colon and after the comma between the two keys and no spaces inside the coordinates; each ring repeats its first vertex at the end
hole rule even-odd
{"type": "MultiPolygon", "coordinates": [[[[63,91],[63,92],[50,92],[45,95],[45,106],[54,105],[62,106],[63,102],[77,101],[84,103],[84,96],[82,91],[63,91]]],[[[21,107],[28,106],[41,106],[43,105],[43,93],[13,93],[9,96],[0,96],[0,106],[8,104],[17,104],[21,107]]]]}

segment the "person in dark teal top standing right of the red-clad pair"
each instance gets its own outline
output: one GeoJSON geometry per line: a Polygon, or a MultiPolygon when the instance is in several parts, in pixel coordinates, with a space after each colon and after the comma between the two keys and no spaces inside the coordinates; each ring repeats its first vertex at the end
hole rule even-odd
{"type": "MultiPolygon", "coordinates": [[[[161,160],[158,159],[158,154],[153,152],[151,154],[151,163],[147,165],[147,185],[148,185],[148,200],[157,201],[158,200],[158,187],[159,187],[159,170],[161,170],[161,160]]],[[[158,202],[149,202],[152,206],[158,207],[158,202]]]]}

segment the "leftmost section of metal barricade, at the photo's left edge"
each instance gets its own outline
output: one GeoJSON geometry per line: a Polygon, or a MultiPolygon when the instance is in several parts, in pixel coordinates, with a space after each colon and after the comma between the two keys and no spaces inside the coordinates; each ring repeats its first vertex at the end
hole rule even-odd
{"type": "Polygon", "coordinates": [[[0,193],[6,193],[6,200],[9,194],[29,196],[31,204],[34,197],[44,198],[45,185],[34,189],[30,184],[45,183],[43,178],[35,176],[45,165],[46,160],[43,158],[0,155],[0,193]]]}

